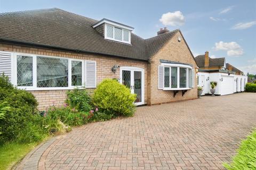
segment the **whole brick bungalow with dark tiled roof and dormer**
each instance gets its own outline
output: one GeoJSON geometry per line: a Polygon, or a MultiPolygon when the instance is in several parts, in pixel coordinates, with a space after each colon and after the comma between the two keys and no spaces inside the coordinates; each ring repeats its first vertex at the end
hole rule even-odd
{"type": "Polygon", "coordinates": [[[0,73],[38,100],[62,105],[66,91],[117,79],[136,105],[197,98],[197,68],[180,30],[143,39],[133,27],[58,8],[0,14],[0,73]]]}

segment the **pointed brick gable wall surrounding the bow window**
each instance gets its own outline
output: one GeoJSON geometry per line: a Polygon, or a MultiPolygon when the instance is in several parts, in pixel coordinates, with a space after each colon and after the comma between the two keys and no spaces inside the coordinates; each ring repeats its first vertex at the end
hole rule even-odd
{"type": "Polygon", "coordinates": [[[181,91],[179,91],[174,98],[173,91],[158,90],[158,65],[161,65],[160,59],[189,63],[193,65],[193,69],[197,66],[184,39],[182,38],[181,41],[178,42],[179,36],[182,37],[180,32],[177,32],[176,35],[150,59],[151,65],[148,68],[150,71],[149,74],[151,75],[151,80],[148,81],[148,91],[151,89],[151,92],[148,94],[148,98],[150,99],[150,103],[148,102],[149,105],[197,98],[197,77],[195,77],[195,88],[188,90],[184,96],[182,96],[181,91]]]}

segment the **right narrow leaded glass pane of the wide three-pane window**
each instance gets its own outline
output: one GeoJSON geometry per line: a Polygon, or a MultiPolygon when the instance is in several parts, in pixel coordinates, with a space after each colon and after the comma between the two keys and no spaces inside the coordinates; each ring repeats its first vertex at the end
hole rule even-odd
{"type": "Polygon", "coordinates": [[[82,86],[82,62],[71,61],[71,85],[82,86]]]}

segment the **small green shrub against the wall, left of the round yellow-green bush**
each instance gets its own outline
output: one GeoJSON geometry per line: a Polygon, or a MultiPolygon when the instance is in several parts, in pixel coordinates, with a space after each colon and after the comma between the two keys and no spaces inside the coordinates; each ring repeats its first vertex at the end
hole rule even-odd
{"type": "Polygon", "coordinates": [[[84,89],[69,90],[66,103],[78,111],[89,112],[92,109],[91,98],[84,89]]]}

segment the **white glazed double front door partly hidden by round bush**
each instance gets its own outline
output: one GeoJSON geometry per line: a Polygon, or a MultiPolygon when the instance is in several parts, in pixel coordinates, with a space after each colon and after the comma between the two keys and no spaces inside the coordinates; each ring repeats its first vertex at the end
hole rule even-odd
{"type": "Polygon", "coordinates": [[[138,67],[121,67],[120,83],[136,94],[135,105],[144,104],[144,70],[138,67]]]}

